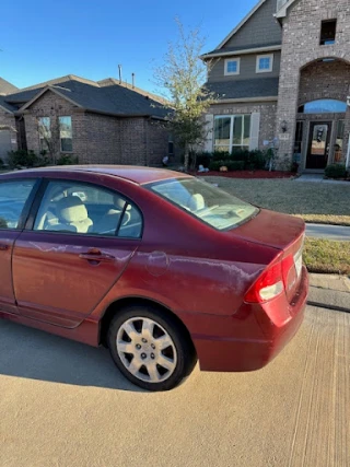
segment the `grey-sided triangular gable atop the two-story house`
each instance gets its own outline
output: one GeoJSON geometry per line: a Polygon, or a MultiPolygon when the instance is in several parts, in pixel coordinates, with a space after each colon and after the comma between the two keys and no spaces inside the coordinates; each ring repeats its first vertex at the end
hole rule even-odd
{"type": "Polygon", "coordinates": [[[260,0],[217,48],[252,48],[257,44],[260,47],[271,43],[281,44],[282,31],[275,19],[276,1],[260,0]]]}

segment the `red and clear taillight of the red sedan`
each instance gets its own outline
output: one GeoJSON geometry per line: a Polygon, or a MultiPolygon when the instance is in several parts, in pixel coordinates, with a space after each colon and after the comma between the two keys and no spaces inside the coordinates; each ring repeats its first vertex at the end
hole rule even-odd
{"type": "Polygon", "coordinates": [[[292,255],[284,259],[279,257],[258,277],[246,293],[245,302],[264,303],[285,292],[292,267],[294,267],[292,255]]]}

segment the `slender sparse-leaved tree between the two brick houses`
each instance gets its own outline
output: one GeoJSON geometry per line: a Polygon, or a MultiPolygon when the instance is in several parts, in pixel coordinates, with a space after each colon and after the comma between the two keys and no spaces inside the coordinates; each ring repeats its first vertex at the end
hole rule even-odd
{"type": "Polygon", "coordinates": [[[203,86],[207,67],[199,58],[205,45],[200,31],[196,28],[186,33],[180,21],[176,19],[176,23],[178,38],[170,43],[163,65],[154,70],[154,81],[172,109],[170,127],[184,151],[187,171],[189,153],[203,143],[210,131],[205,114],[215,100],[203,86]]]}

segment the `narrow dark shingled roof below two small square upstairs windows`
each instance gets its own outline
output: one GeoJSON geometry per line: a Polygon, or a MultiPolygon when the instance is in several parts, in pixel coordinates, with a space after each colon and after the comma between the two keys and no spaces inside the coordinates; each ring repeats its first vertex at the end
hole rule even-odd
{"type": "Polygon", "coordinates": [[[206,87],[218,96],[226,98],[257,98],[278,96],[278,78],[259,78],[240,81],[208,82],[206,87]]]}

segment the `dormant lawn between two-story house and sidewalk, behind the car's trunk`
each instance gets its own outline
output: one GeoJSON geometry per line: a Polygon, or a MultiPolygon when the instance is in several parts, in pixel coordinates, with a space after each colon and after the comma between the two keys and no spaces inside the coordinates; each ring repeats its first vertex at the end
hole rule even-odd
{"type": "Polygon", "coordinates": [[[299,215],[306,222],[350,225],[350,183],[346,186],[218,176],[207,176],[205,179],[261,208],[299,215]]]}

